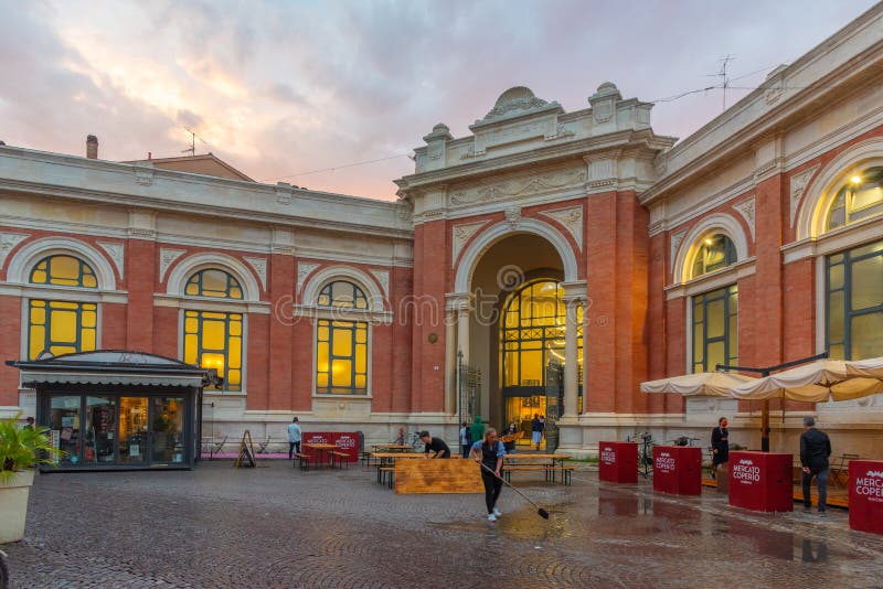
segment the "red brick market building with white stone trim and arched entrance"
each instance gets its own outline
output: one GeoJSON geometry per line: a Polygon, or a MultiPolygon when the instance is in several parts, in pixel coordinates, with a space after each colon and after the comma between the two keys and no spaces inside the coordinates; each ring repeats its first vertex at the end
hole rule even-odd
{"type": "MultiPolygon", "coordinates": [[[[0,147],[0,356],[138,350],[216,367],[204,427],[281,436],[479,414],[560,446],[652,431],[759,445],[759,411],[639,392],[716,363],[883,355],[883,6],[675,142],[602,84],[515,87],[416,149],[397,203],[251,181],[213,157],[0,147]],[[555,426],[555,429],[552,426],[555,426]]],[[[34,410],[0,366],[0,409],[34,410]]],[[[883,399],[774,404],[871,454],[883,399]]],[[[49,410],[49,409],[47,409],[49,410]]],[[[78,419],[78,418],[77,418],[78,419]]]]}

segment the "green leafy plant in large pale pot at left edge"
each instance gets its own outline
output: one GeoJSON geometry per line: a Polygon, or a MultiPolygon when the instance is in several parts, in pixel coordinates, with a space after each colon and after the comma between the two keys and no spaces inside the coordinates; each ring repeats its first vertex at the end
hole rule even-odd
{"type": "Polygon", "coordinates": [[[20,427],[21,414],[0,419],[0,544],[24,537],[28,494],[34,467],[51,464],[61,452],[50,446],[46,429],[20,427]]]}

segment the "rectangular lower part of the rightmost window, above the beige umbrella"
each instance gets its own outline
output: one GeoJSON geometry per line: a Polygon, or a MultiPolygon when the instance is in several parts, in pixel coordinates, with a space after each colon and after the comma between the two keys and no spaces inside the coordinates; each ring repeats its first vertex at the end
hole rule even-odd
{"type": "Polygon", "coordinates": [[[883,356],[883,240],[828,256],[826,302],[831,357],[883,356]]]}

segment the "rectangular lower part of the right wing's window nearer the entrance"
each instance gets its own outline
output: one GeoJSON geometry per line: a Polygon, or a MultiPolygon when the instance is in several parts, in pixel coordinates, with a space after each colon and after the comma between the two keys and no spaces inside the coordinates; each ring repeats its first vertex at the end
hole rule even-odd
{"type": "Polygon", "coordinates": [[[738,361],[738,290],[735,285],[693,297],[693,372],[738,361]]]}

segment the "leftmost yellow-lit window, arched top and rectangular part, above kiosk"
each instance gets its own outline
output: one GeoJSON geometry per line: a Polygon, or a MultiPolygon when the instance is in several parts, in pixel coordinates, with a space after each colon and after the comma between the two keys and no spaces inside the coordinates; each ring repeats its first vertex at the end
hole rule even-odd
{"type": "MultiPolygon", "coordinates": [[[[95,271],[72,256],[49,256],[31,270],[30,282],[72,289],[97,289],[95,271]]],[[[98,306],[31,299],[28,309],[28,357],[36,358],[42,351],[53,355],[95,350],[98,329],[98,306]]]]}

